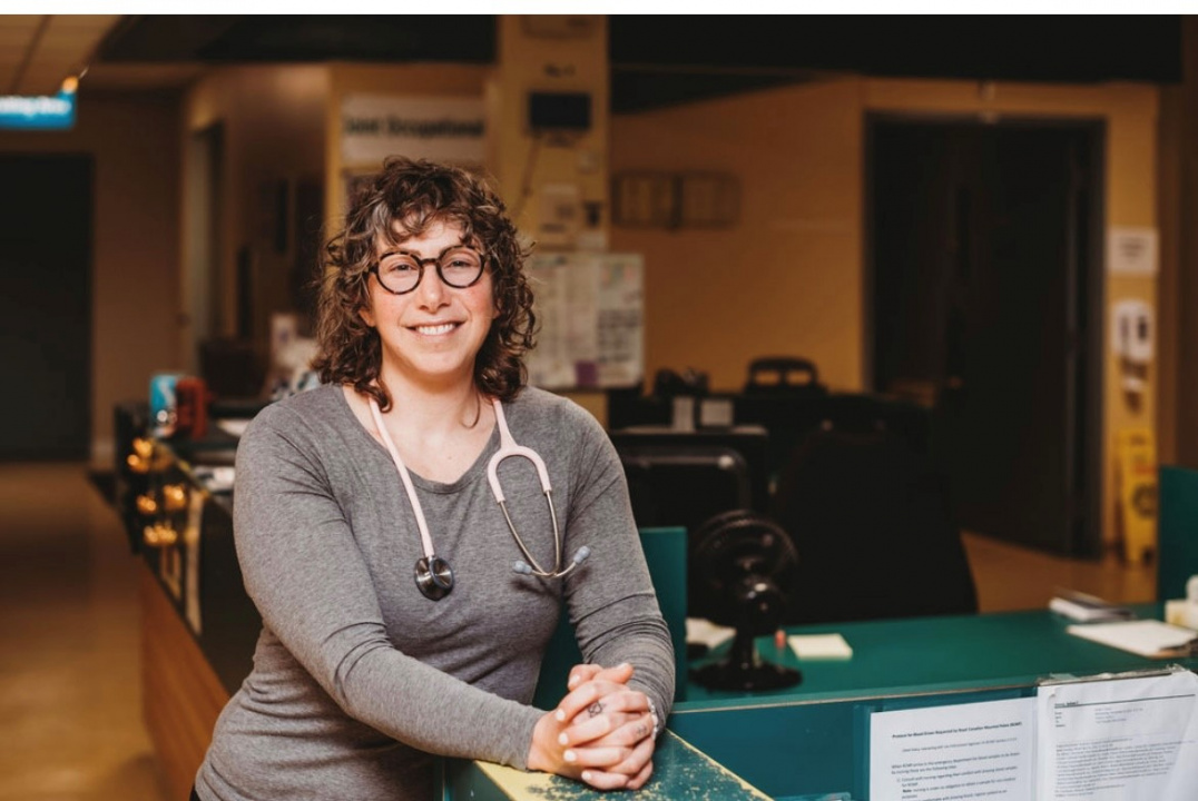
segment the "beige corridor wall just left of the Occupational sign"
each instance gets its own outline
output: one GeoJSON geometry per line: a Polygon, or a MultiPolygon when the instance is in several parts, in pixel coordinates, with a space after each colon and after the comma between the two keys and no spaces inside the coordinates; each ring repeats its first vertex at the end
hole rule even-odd
{"type": "MultiPolygon", "coordinates": [[[[273,190],[280,181],[294,188],[301,180],[322,180],[328,96],[327,67],[271,65],[213,69],[183,98],[184,147],[195,132],[216,123],[224,127],[223,239],[217,256],[222,292],[213,299],[220,310],[217,334],[236,333],[237,254],[244,248],[253,263],[252,335],[260,347],[266,344],[271,312],[289,310],[288,277],[295,253],[290,245],[284,253],[273,247],[273,190]]],[[[180,170],[181,164],[176,162],[175,169],[180,170]]],[[[187,189],[184,186],[184,196],[187,189]]],[[[176,255],[180,263],[190,245],[189,237],[202,235],[184,226],[182,249],[176,255]]],[[[184,286],[188,284],[184,281],[184,286]]],[[[181,303],[186,307],[186,298],[181,303]]],[[[182,347],[194,346],[186,332],[182,340],[182,347]]]]}

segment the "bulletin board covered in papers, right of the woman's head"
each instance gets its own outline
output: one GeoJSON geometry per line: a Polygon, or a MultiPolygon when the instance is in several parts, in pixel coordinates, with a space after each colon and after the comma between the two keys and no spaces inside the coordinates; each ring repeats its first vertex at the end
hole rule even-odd
{"type": "Polygon", "coordinates": [[[640,254],[530,259],[540,332],[526,359],[544,389],[633,387],[645,375],[645,260],[640,254]]]}

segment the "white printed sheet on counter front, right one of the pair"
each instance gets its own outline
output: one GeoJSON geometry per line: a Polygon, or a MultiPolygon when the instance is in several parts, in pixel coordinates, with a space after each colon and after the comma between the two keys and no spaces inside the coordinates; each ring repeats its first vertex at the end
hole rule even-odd
{"type": "Polygon", "coordinates": [[[1198,675],[1040,687],[1041,801],[1193,801],[1198,675]]]}

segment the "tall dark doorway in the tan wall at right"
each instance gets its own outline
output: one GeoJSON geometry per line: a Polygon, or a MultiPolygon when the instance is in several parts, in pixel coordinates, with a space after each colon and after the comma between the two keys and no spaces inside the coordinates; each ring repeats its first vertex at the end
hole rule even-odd
{"type": "Polygon", "coordinates": [[[918,392],[968,530],[1101,552],[1100,122],[872,117],[873,387],[918,392]]]}

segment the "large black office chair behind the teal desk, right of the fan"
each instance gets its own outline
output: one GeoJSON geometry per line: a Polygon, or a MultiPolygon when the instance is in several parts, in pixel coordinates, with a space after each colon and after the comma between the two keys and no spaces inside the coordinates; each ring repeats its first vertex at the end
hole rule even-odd
{"type": "Polygon", "coordinates": [[[772,509],[803,554],[787,623],[976,612],[931,455],[888,424],[885,401],[859,396],[829,412],[795,447],[772,509]]]}

